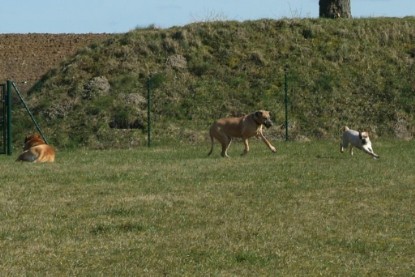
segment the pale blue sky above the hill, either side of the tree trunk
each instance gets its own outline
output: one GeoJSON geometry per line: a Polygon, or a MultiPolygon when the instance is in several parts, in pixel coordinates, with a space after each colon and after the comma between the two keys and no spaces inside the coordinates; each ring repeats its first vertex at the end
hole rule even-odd
{"type": "MultiPolygon", "coordinates": [[[[123,33],[199,21],[318,17],[319,0],[0,0],[0,33],[123,33]]],[[[415,0],[351,0],[359,17],[415,16],[415,0]]]]}

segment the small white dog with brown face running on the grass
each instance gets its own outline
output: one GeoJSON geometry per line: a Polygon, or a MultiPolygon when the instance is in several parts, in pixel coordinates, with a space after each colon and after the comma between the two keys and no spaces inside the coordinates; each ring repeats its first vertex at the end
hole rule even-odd
{"type": "Polygon", "coordinates": [[[343,137],[342,142],[340,143],[340,152],[344,152],[350,144],[350,155],[353,155],[353,147],[356,147],[366,154],[369,154],[374,159],[379,158],[372,149],[372,142],[369,139],[368,132],[359,132],[355,130],[349,129],[349,127],[345,126],[343,129],[343,137]]]}

